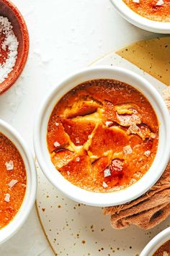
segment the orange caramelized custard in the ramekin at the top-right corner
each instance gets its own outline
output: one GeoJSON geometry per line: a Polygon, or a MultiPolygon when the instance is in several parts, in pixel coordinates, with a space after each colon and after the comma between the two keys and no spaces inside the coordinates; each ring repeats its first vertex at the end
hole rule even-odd
{"type": "Polygon", "coordinates": [[[134,12],[141,16],[155,21],[170,22],[170,1],[158,0],[123,0],[134,12]]]}

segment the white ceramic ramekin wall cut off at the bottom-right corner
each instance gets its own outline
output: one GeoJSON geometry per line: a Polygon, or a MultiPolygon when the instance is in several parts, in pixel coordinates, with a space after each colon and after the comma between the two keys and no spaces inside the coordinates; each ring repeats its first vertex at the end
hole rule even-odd
{"type": "Polygon", "coordinates": [[[140,253],[140,256],[153,256],[153,253],[170,239],[170,228],[155,236],[140,253]]]}

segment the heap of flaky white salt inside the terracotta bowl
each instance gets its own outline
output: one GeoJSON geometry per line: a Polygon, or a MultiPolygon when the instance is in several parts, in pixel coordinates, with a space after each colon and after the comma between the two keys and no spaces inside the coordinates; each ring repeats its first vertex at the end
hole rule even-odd
{"type": "Polygon", "coordinates": [[[0,16],[0,37],[4,35],[4,41],[0,46],[0,54],[1,49],[4,51],[8,51],[8,56],[4,63],[0,64],[0,82],[3,82],[8,74],[12,72],[12,69],[15,65],[17,59],[17,48],[18,41],[16,36],[14,35],[14,31],[12,30],[12,24],[9,22],[8,18],[0,16]]]}

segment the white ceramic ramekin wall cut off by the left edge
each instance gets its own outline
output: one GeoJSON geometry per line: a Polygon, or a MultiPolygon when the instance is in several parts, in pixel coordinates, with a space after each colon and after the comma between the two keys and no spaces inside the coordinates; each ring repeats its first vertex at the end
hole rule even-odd
{"type": "Polygon", "coordinates": [[[28,150],[27,145],[25,144],[22,137],[14,128],[12,128],[9,124],[6,124],[5,121],[0,119],[0,132],[4,134],[9,140],[11,140],[16,146],[17,150],[19,150],[20,155],[24,161],[24,165],[27,172],[27,188],[24,196],[24,200],[22,202],[22,206],[19,209],[14,219],[9,222],[3,229],[0,229],[0,244],[5,242],[7,239],[12,237],[23,225],[24,221],[26,221],[27,216],[32,209],[32,205],[35,202],[35,195],[37,189],[37,175],[35,171],[35,163],[30,154],[30,150],[28,150]]]}

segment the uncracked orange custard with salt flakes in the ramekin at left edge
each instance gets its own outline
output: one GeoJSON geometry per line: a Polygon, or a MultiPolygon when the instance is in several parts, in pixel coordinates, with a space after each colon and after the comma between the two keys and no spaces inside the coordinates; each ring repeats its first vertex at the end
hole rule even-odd
{"type": "Polygon", "coordinates": [[[24,162],[14,144],[0,133],[0,229],[17,214],[26,190],[24,162]]]}

